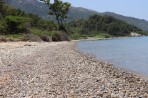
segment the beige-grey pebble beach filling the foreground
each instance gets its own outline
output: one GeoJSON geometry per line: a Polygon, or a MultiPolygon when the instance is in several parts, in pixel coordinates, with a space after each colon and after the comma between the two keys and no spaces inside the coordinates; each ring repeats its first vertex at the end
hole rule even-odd
{"type": "Polygon", "coordinates": [[[0,43],[0,98],[148,98],[148,81],[76,42],[0,43]]]}

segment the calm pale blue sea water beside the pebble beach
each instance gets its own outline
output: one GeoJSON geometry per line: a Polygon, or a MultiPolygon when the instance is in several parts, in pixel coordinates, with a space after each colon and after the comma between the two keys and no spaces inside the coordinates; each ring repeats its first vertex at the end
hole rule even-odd
{"type": "Polygon", "coordinates": [[[148,76],[148,37],[80,41],[77,47],[100,60],[148,76]]]}

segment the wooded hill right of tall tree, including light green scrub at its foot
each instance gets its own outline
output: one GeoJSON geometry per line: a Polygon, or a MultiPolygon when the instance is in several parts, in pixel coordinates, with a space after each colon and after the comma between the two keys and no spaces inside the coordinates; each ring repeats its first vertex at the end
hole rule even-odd
{"type": "Polygon", "coordinates": [[[129,36],[131,32],[141,33],[141,29],[112,16],[94,14],[87,20],[78,19],[67,24],[74,38],[129,36]]]}

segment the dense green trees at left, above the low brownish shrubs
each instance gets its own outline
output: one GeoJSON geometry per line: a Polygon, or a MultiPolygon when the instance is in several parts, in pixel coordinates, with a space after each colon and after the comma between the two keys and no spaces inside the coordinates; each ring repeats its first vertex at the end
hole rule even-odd
{"type": "Polygon", "coordinates": [[[50,20],[43,20],[34,14],[26,14],[20,9],[3,4],[1,7],[0,34],[29,33],[30,28],[57,30],[57,25],[50,20]]]}

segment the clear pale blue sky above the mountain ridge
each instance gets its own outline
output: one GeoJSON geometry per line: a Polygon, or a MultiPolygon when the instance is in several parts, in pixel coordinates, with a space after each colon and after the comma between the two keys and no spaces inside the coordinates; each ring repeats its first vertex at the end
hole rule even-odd
{"type": "Polygon", "coordinates": [[[98,12],[115,12],[124,16],[148,20],[148,0],[62,0],[75,7],[98,12]]]}

